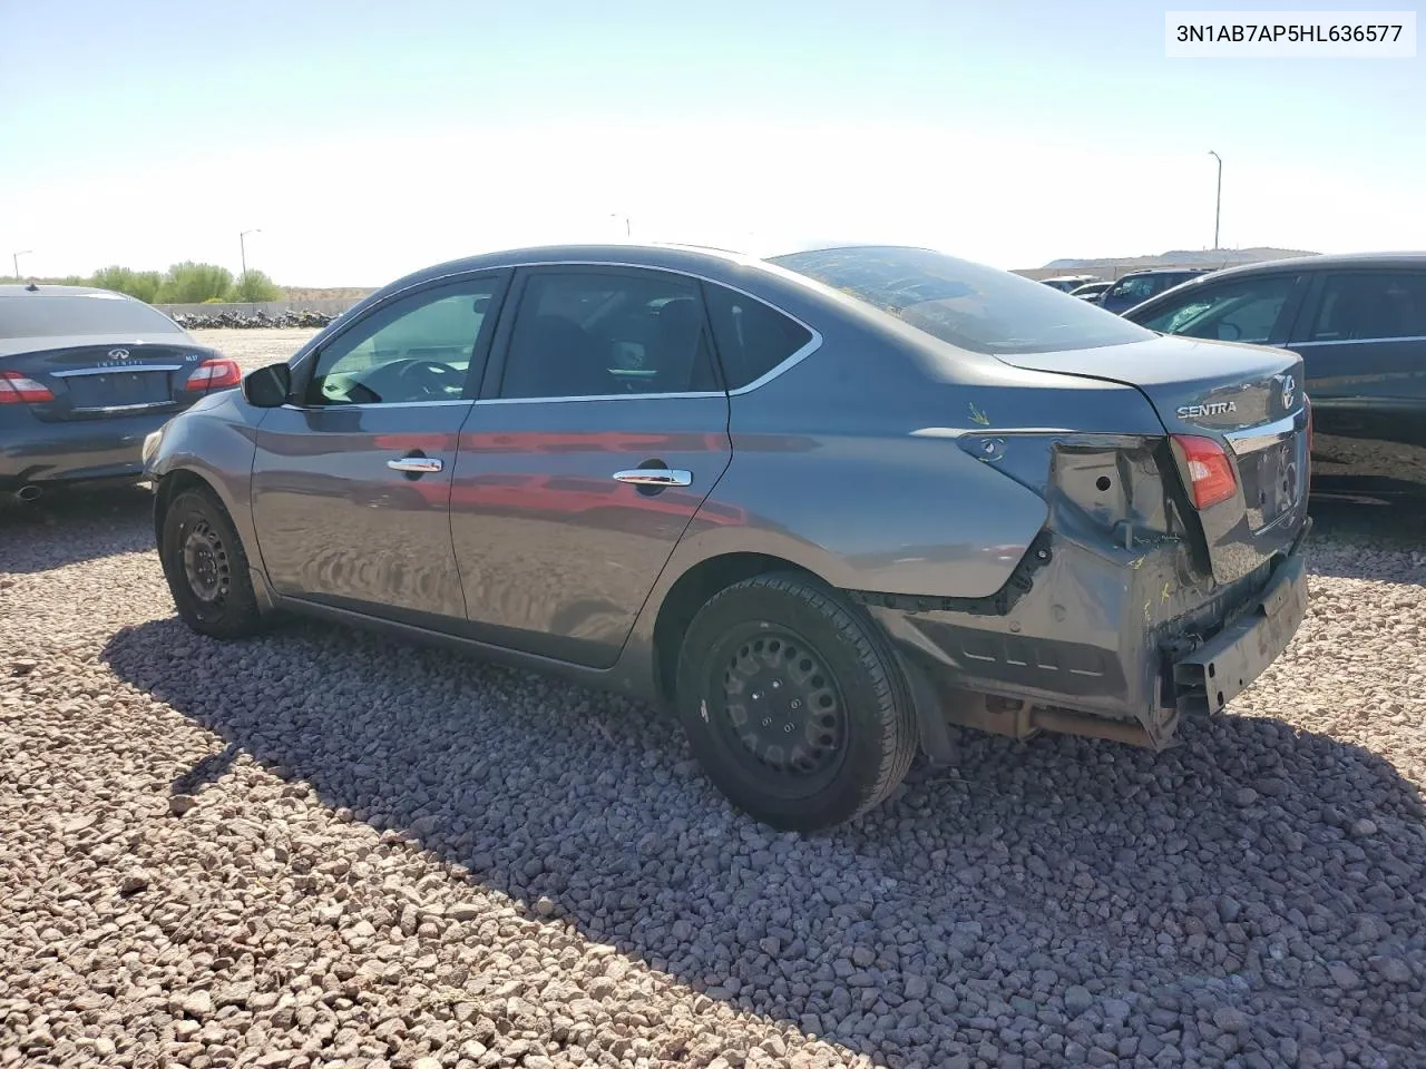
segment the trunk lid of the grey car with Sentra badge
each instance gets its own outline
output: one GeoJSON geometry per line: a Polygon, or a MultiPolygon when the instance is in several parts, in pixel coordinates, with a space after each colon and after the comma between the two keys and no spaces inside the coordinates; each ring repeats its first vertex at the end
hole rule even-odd
{"type": "MultiPolygon", "coordinates": [[[[1285,552],[1306,522],[1308,410],[1302,358],[1285,349],[1184,338],[998,358],[1027,371],[1134,386],[1172,438],[1211,439],[1228,455],[1236,493],[1194,509],[1219,583],[1285,552]]],[[[1175,449],[1181,489],[1189,470],[1175,449]]]]}

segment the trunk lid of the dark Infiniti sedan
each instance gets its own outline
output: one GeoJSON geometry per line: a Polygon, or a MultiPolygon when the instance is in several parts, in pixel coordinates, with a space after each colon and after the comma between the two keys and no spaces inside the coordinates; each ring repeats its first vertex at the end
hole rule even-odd
{"type": "Polygon", "coordinates": [[[0,373],[40,388],[26,389],[26,403],[47,423],[178,412],[207,392],[188,389],[188,378],[218,356],[183,335],[161,342],[16,338],[0,345],[0,373]]]}

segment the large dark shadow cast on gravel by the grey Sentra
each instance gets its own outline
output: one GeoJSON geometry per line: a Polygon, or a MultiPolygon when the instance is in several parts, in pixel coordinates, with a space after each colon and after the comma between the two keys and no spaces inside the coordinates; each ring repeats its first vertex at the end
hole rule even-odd
{"type": "Polygon", "coordinates": [[[733,812],[655,710],[545,677],[324,624],[220,644],[168,619],[103,656],[532,916],[888,1065],[957,1029],[1128,1015],[1206,1042],[1232,1031],[1215,1006],[1392,1065],[1422,1050],[1419,792],[1282,721],[1189,724],[1159,755],[964,733],[954,770],[799,837],[733,812]]]}

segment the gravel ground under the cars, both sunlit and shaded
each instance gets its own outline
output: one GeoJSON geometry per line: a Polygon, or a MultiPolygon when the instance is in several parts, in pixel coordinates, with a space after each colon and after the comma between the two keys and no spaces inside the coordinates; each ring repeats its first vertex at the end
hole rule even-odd
{"type": "Polygon", "coordinates": [[[964,733],[800,838],[643,706],[193,636],[147,495],[44,500],[0,517],[3,1066],[1426,1065],[1419,517],[1323,512],[1298,640],[1181,747],[964,733]]]}

